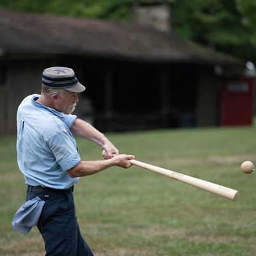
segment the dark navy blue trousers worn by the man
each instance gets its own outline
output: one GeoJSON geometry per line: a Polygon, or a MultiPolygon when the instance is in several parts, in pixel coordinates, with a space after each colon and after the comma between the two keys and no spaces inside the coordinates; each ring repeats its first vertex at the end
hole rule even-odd
{"type": "Polygon", "coordinates": [[[27,191],[26,200],[39,196],[45,201],[38,230],[45,243],[45,256],[93,256],[81,236],[70,191],[27,191]]]}

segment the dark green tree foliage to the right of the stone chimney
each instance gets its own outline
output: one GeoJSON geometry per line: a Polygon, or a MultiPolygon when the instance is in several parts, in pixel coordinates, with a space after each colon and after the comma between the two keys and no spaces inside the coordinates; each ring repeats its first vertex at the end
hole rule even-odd
{"type": "Polygon", "coordinates": [[[189,40],[256,61],[255,1],[248,2],[250,0],[179,0],[173,4],[173,30],[189,40]],[[244,5],[253,12],[246,12],[244,5]]]}

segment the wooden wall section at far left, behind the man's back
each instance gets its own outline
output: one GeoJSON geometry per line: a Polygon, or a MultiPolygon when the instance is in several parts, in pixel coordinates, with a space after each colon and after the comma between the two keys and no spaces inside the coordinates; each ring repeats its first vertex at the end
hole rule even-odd
{"type": "Polygon", "coordinates": [[[6,79],[0,90],[0,134],[16,133],[16,114],[20,102],[28,95],[41,92],[42,60],[7,60],[6,79]]]}

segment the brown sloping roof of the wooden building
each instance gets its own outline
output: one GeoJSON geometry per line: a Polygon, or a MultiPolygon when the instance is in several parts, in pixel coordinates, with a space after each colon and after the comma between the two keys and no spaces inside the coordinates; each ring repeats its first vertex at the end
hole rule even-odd
{"type": "Polygon", "coordinates": [[[170,63],[241,65],[172,32],[106,20],[0,9],[0,54],[52,53],[170,63]]]}

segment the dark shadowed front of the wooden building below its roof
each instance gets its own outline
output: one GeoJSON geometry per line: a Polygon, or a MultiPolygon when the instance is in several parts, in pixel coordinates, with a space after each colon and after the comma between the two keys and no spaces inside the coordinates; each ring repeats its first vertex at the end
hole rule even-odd
{"type": "Polygon", "coordinates": [[[108,124],[115,127],[119,122],[120,126],[120,118],[127,122],[125,125],[122,121],[122,129],[218,125],[218,87],[210,65],[135,65],[124,61],[113,65],[112,61],[109,69],[109,61],[101,59],[43,57],[26,56],[24,60],[16,56],[6,60],[6,79],[0,87],[0,134],[16,133],[20,102],[27,95],[40,93],[42,70],[57,65],[73,68],[86,86],[74,114],[94,122],[100,131],[109,131],[108,124]],[[110,110],[108,91],[112,93],[110,110]],[[112,111],[111,118],[108,111],[112,111]]]}

